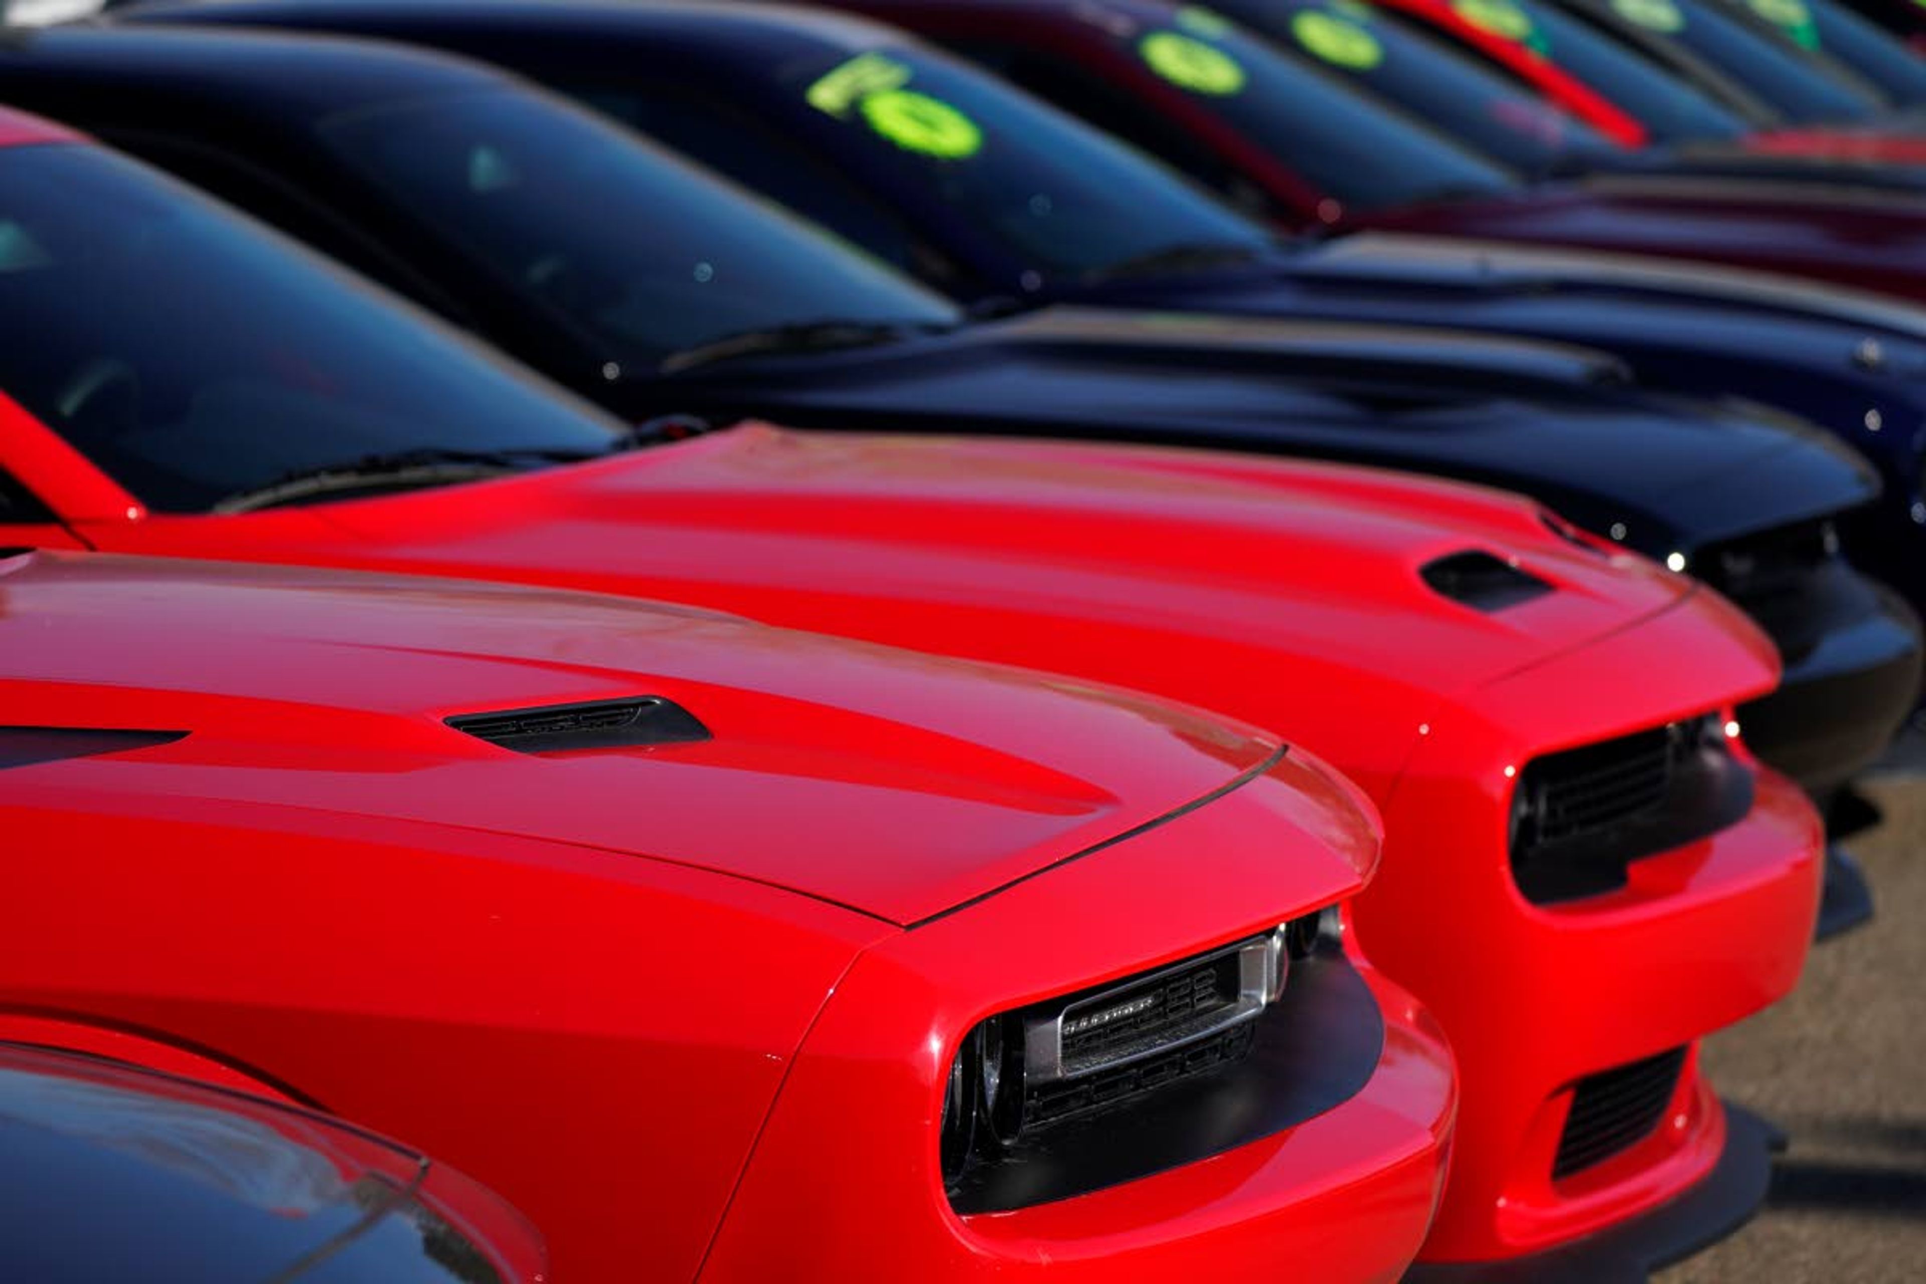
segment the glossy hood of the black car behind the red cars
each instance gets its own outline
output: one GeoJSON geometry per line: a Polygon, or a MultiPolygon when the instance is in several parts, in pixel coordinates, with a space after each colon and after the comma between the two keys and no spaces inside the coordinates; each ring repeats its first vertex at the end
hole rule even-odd
{"type": "Polygon", "coordinates": [[[1389,327],[1050,308],[847,352],[636,385],[711,418],[797,427],[1258,449],[1523,491],[1666,556],[1872,501],[1878,479],[1799,420],[1681,402],[1558,345],[1389,327]]]}

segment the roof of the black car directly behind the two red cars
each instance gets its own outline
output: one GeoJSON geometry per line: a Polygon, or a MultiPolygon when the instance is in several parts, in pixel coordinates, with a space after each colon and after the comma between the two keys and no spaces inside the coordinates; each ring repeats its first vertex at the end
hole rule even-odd
{"type": "Polygon", "coordinates": [[[0,96],[10,77],[31,75],[73,90],[108,87],[129,108],[156,96],[245,102],[248,114],[304,121],[508,81],[482,64],[374,40],[160,25],[21,33],[0,48],[0,96]]]}

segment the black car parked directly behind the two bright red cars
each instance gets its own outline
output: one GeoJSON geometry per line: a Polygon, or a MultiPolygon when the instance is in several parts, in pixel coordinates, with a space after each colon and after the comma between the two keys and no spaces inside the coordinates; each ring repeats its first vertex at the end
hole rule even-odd
{"type": "MultiPolygon", "coordinates": [[[[532,33],[566,12],[520,10],[532,33]]],[[[1653,397],[1597,352],[1196,314],[973,320],[557,98],[372,42],[56,29],[0,60],[0,96],[200,183],[661,431],[768,416],[1163,441],[1527,491],[1751,599],[1791,668],[1743,718],[1814,789],[1878,755],[1918,687],[1916,622],[1837,554],[1835,524],[1874,499],[1872,472],[1780,414],[1653,397]]]]}

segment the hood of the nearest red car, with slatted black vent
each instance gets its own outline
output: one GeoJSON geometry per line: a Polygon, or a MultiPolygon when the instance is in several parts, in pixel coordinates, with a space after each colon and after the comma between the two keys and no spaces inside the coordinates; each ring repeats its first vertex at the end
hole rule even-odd
{"type": "MultiPolygon", "coordinates": [[[[1281,749],[1034,674],[501,585],[17,554],[0,562],[0,616],[12,735],[187,733],[54,760],[0,735],[0,762],[48,807],[221,799],[275,824],[462,826],[905,924],[1254,778],[1281,749]],[[526,755],[443,722],[639,695],[711,739],[526,755]]],[[[1246,787],[1275,795],[1304,903],[1360,886],[1375,818],[1346,783],[1292,751],[1246,787]]]]}

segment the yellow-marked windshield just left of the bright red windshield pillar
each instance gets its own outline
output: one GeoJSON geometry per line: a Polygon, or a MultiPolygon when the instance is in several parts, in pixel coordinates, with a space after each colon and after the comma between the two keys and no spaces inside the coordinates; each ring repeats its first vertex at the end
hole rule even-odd
{"type": "Polygon", "coordinates": [[[1364,0],[1231,0],[1225,13],[1525,173],[1610,144],[1533,92],[1364,0]]]}

